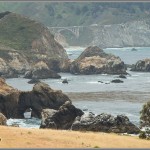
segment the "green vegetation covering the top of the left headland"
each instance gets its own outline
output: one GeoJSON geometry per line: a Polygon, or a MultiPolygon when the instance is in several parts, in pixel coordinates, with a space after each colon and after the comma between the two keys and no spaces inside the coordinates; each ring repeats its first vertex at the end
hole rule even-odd
{"type": "Polygon", "coordinates": [[[31,49],[41,34],[41,25],[15,13],[6,14],[0,22],[0,44],[16,50],[31,49]]]}

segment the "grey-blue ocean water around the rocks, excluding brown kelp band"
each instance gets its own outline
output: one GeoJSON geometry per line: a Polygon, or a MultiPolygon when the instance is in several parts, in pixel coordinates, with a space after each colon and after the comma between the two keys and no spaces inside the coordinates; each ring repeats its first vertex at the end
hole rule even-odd
{"type": "MultiPolygon", "coordinates": [[[[136,48],[137,51],[131,51],[132,48],[107,48],[104,49],[107,53],[115,54],[119,56],[126,64],[133,64],[136,61],[144,58],[150,58],[150,48],[136,48]]],[[[84,48],[77,49],[67,49],[67,53],[69,54],[70,59],[77,58],[84,48]]],[[[129,92],[130,94],[138,94],[140,92],[149,92],[150,91],[150,73],[144,72],[131,72],[128,70],[130,76],[127,76],[127,79],[121,79],[124,83],[110,83],[111,80],[116,79],[117,75],[72,75],[69,73],[60,73],[62,76],[61,79],[45,79],[41,80],[47,83],[51,88],[62,90],[65,93],[75,93],[76,95],[80,93],[92,93],[92,92],[129,92]],[[68,79],[69,84],[62,84],[63,79],[68,79]],[[100,83],[98,81],[102,81],[100,83]],[[107,83],[107,84],[106,84],[107,83]]],[[[28,91],[32,90],[33,85],[28,84],[29,80],[24,78],[13,78],[7,79],[6,82],[17,88],[19,90],[28,91]]],[[[85,94],[86,95],[86,94],[85,94]]],[[[138,96],[137,96],[138,97],[138,96]]],[[[110,96],[111,98],[111,96],[110,96]]],[[[99,100],[97,97],[86,97],[82,99],[72,100],[73,104],[80,109],[87,109],[88,111],[92,111],[96,114],[99,113],[110,113],[112,115],[125,114],[129,117],[129,119],[139,125],[140,118],[140,110],[142,109],[142,105],[148,101],[147,97],[142,97],[142,100],[134,100],[131,99],[130,96],[116,99],[112,96],[112,99],[107,100],[99,100]]],[[[136,99],[136,97],[135,97],[136,99]]],[[[28,127],[28,128],[38,128],[40,125],[39,119],[9,119],[8,124],[19,124],[20,127],[28,127]]]]}

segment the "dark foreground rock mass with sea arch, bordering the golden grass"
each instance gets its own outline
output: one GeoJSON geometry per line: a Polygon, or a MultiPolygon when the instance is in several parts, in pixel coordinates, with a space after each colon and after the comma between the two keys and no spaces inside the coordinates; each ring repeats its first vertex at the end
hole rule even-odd
{"type": "Polygon", "coordinates": [[[0,81],[3,89],[0,93],[0,111],[7,118],[24,118],[24,112],[31,108],[31,116],[42,119],[40,128],[133,134],[140,132],[124,115],[85,115],[66,94],[51,89],[45,83],[39,82],[33,86],[32,91],[23,92],[8,86],[4,79],[0,81]]]}

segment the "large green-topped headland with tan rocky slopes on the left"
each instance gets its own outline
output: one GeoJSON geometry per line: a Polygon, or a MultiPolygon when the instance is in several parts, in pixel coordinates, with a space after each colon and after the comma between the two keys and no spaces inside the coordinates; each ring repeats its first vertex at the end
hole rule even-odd
{"type": "Polygon", "coordinates": [[[63,70],[68,56],[46,27],[15,13],[0,16],[0,58],[5,66],[22,73],[44,61],[54,71],[63,70]]]}

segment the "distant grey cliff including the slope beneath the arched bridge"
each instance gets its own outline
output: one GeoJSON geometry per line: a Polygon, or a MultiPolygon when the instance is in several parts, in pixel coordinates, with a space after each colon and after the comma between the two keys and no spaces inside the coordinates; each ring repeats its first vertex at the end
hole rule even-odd
{"type": "Polygon", "coordinates": [[[96,45],[102,48],[150,46],[150,19],[122,24],[79,26],[78,30],[78,38],[73,34],[67,36],[67,30],[61,33],[69,45],[96,45]]]}

